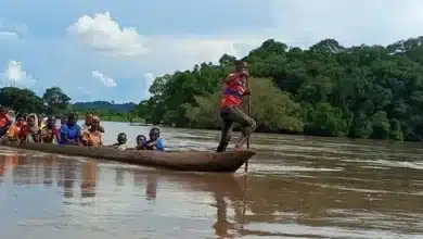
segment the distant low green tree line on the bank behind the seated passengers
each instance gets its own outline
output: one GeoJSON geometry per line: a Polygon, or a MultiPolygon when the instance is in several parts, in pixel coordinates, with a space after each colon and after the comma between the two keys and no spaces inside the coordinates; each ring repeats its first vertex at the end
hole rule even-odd
{"type": "Polygon", "coordinates": [[[102,121],[114,122],[141,122],[132,114],[134,103],[118,104],[107,101],[76,102],[70,103],[70,98],[59,87],[51,87],[46,90],[42,97],[37,96],[29,89],[16,87],[0,88],[0,105],[5,105],[15,112],[52,114],[56,116],[68,112],[78,113],[84,118],[87,113],[94,113],[102,121]]]}

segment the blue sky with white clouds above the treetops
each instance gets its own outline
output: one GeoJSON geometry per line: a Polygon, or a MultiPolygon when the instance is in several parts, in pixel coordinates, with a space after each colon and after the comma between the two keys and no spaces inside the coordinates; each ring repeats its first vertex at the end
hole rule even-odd
{"type": "Polygon", "coordinates": [[[155,76],[264,40],[386,45],[423,35],[419,0],[0,1],[0,84],[73,101],[146,99],[155,76]],[[336,4],[334,4],[336,2],[336,4]]]}

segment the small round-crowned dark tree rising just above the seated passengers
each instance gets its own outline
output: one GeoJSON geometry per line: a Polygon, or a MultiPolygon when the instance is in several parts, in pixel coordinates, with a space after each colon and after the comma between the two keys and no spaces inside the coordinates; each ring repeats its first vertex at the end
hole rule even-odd
{"type": "Polygon", "coordinates": [[[42,99],[47,105],[48,114],[63,113],[69,105],[70,98],[60,87],[46,89],[42,99]]]}

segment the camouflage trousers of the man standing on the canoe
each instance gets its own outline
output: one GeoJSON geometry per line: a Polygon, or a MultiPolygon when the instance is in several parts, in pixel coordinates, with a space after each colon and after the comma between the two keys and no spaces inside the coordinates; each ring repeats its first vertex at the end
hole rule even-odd
{"type": "Polygon", "coordinates": [[[227,106],[220,110],[220,118],[222,121],[222,129],[217,152],[225,152],[232,137],[234,124],[242,127],[242,134],[239,138],[235,148],[241,148],[246,142],[248,136],[256,129],[256,122],[246,115],[240,108],[227,106]]]}

